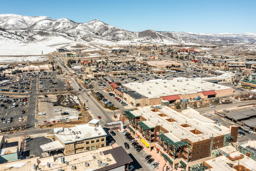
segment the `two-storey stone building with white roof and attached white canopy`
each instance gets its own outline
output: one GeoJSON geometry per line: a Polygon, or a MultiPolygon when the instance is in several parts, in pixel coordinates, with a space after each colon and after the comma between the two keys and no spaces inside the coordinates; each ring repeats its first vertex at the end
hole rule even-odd
{"type": "Polygon", "coordinates": [[[65,155],[90,151],[106,146],[106,133],[99,125],[99,119],[92,119],[88,124],[71,128],[54,128],[55,141],[41,145],[41,149],[50,155],[62,150],[65,155]]]}

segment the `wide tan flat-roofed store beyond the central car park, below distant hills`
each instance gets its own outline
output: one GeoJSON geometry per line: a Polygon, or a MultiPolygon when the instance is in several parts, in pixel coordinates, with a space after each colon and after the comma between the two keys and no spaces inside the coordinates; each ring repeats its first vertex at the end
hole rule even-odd
{"type": "Polygon", "coordinates": [[[149,68],[156,68],[156,69],[169,69],[173,67],[183,67],[183,64],[181,62],[177,61],[164,61],[164,60],[159,60],[159,61],[146,61],[141,64],[142,66],[146,66],[149,68]]]}

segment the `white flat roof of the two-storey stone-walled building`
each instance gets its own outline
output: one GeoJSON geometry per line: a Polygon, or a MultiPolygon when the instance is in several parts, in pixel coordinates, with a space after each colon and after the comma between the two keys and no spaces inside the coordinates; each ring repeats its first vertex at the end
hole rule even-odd
{"type": "Polygon", "coordinates": [[[94,127],[89,126],[89,124],[76,125],[76,127],[71,128],[63,128],[62,132],[55,134],[55,136],[59,138],[64,144],[79,142],[82,140],[102,137],[106,135],[107,134],[101,125],[94,127]]]}

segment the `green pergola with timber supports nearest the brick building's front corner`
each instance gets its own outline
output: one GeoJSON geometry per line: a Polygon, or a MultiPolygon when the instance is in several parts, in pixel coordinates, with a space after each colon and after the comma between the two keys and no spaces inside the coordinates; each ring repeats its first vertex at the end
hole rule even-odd
{"type": "Polygon", "coordinates": [[[169,137],[167,137],[164,134],[160,134],[160,135],[158,135],[158,137],[160,138],[160,142],[162,142],[163,148],[164,148],[164,143],[167,145],[168,155],[169,155],[169,147],[171,147],[174,160],[175,160],[175,155],[176,155],[177,150],[178,149],[180,150],[180,152],[179,152],[179,155],[180,155],[182,153],[183,146],[190,144],[186,140],[174,142],[173,140],[171,140],[169,137]]]}

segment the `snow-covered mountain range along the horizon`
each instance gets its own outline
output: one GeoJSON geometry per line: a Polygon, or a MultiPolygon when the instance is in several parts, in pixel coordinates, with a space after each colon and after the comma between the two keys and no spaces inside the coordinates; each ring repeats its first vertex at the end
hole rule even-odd
{"type": "Polygon", "coordinates": [[[117,44],[217,44],[256,42],[256,34],[206,34],[185,32],[156,32],[146,30],[130,32],[97,19],[76,23],[67,18],[52,19],[46,16],[0,15],[0,27],[10,33],[0,34],[0,40],[16,42],[48,42],[65,39],[69,42],[117,42],[117,44]],[[11,34],[13,33],[13,34],[11,34]]]}

